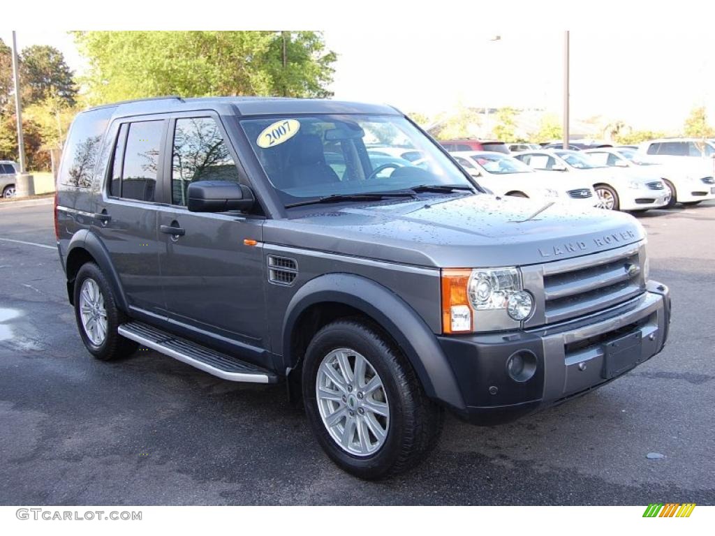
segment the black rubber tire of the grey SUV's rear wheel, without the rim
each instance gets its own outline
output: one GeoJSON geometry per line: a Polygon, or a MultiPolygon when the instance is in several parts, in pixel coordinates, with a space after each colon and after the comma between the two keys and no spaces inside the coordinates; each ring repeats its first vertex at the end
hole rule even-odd
{"type": "Polygon", "coordinates": [[[136,342],[125,339],[117,333],[117,327],[127,321],[126,316],[119,309],[114,301],[114,292],[112,287],[104,277],[102,270],[99,269],[94,262],[87,262],[77,272],[77,277],[74,279],[74,317],[77,319],[77,328],[79,336],[82,337],[84,346],[87,347],[89,353],[102,361],[111,361],[119,357],[127,357],[137,351],[139,346],[136,342]],[[107,317],[107,332],[101,343],[95,344],[92,342],[87,330],[82,322],[81,311],[81,296],[84,282],[92,279],[99,287],[99,292],[102,293],[104,301],[104,310],[107,317]]]}

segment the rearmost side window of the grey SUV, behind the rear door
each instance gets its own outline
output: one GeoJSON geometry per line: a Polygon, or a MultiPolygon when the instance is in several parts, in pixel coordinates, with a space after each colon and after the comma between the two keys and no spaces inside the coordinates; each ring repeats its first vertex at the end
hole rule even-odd
{"type": "Polygon", "coordinates": [[[62,152],[59,184],[70,187],[92,186],[102,136],[114,108],[101,108],[79,114],[69,130],[69,138],[62,152]]]}

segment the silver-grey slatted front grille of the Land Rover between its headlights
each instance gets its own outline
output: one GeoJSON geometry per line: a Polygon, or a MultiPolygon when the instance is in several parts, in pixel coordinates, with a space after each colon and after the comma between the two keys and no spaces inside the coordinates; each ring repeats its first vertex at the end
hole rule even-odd
{"type": "MultiPolygon", "coordinates": [[[[644,253],[645,254],[645,253],[644,253]]],[[[626,302],[645,290],[638,245],[543,265],[547,324],[626,302]]]]}

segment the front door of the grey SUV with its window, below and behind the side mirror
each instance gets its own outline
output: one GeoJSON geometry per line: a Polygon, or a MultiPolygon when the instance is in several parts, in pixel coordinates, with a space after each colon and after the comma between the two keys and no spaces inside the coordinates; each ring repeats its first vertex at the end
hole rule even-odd
{"type": "Polygon", "coordinates": [[[165,166],[170,207],[159,214],[159,267],[169,320],[251,347],[265,347],[263,217],[189,212],[192,182],[247,184],[219,117],[170,121],[165,166]]]}

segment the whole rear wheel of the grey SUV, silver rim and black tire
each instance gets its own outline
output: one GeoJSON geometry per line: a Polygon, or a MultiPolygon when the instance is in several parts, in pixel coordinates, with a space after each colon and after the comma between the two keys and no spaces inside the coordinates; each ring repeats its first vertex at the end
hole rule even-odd
{"type": "Polygon", "coordinates": [[[79,336],[89,353],[109,361],[125,357],[137,350],[137,343],[117,333],[125,322],[117,309],[114,292],[107,278],[94,262],[84,264],[74,280],[74,314],[79,336]]]}

